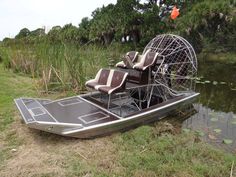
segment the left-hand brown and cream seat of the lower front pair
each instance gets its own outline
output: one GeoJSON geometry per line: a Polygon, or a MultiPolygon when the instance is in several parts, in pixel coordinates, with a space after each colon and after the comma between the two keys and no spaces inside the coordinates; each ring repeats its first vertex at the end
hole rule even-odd
{"type": "Polygon", "coordinates": [[[100,69],[95,77],[85,83],[85,85],[92,89],[98,89],[100,86],[106,85],[108,76],[110,74],[109,69],[100,69]]]}

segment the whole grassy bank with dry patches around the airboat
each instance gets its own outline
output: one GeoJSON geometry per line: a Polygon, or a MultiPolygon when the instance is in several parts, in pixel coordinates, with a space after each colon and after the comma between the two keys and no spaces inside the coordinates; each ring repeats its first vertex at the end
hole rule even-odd
{"type": "MultiPolygon", "coordinates": [[[[214,149],[196,134],[176,134],[170,122],[89,140],[28,129],[21,124],[13,99],[45,97],[34,82],[0,64],[0,176],[225,177],[236,162],[235,154],[214,149]]],[[[47,97],[61,96],[65,94],[47,97]]]]}

